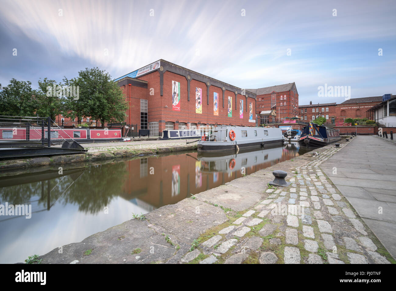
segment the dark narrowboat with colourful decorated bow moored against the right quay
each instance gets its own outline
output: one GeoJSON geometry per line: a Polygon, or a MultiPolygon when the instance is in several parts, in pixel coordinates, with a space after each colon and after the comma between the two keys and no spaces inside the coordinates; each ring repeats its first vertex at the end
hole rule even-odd
{"type": "Polygon", "coordinates": [[[304,147],[323,147],[339,140],[341,140],[341,136],[338,130],[309,123],[303,128],[298,142],[300,146],[304,147]]]}

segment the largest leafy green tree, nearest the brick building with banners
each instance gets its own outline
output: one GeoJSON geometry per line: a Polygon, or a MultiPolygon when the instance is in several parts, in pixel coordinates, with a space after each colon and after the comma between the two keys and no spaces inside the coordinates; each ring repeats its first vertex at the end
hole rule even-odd
{"type": "Polygon", "coordinates": [[[122,122],[128,109],[124,93],[110,74],[99,68],[86,68],[78,72],[80,102],[84,103],[84,115],[105,122],[122,122]]]}

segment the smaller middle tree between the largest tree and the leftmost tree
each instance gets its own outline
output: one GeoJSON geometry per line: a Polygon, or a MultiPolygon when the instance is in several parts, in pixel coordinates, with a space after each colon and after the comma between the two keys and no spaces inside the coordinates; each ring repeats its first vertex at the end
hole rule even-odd
{"type": "MultiPolygon", "coordinates": [[[[41,79],[41,78],[40,78],[41,79]]],[[[37,111],[40,117],[51,117],[55,121],[55,117],[62,113],[63,107],[63,93],[61,88],[62,84],[56,84],[55,80],[48,80],[44,78],[38,81],[39,90],[37,91],[37,111]],[[55,90],[53,86],[55,85],[55,90]],[[59,87],[58,87],[59,86],[59,87]]]]}

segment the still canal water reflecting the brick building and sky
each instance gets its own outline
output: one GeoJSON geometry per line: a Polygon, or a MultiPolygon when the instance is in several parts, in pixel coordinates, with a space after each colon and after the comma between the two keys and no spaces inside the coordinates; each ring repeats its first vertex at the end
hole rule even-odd
{"type": "Polygon", "coordinates": [[[0,263],[80,242],[132,214],[175,204],[243,171],[251,174],[309,150],[292,142],[221,157],[191,152],[0,177],[0,207],[31,205],[30,218],[0,215],[0,263]]]}

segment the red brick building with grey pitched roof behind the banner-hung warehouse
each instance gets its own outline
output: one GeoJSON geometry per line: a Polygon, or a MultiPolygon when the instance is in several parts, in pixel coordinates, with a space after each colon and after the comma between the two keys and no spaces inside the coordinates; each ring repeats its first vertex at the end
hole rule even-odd
{"type": "MultiPolygon", "coordinates": [[[[280,121],[298,117],[298,92],[295,83],[264,87],[259,89],[247,89],[256,94],[256,114],[258,118],[265,117],[262,111],[275,110],[276,118],[280,121]]],[[[263,118],[261,118],[263,119],[263,118]]],[[[262,120],[259,124],[267,123],[262,120]]]]}

